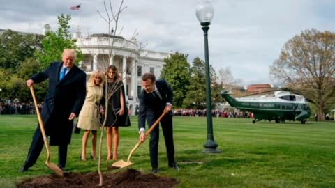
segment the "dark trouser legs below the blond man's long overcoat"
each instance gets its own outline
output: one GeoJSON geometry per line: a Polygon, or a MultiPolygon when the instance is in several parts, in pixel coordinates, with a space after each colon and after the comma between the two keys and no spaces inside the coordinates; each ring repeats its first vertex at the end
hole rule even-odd
{"type": "MultiPolygon", "coordinates": [[[[40,132],[40,127],[38,127],[34,133],[33,140],[31,141],[27,159],[24,162],[24,166],[27,169],[36,163],[38,157],[40,156],[40,152],[42,152],[43,146],[43,135],[42,132],[40,132]]],[[[60,145],[58,148],[58,166],[60,168],[64,168],[66,166],[67,155],[68,145],[60,145]]]]}

